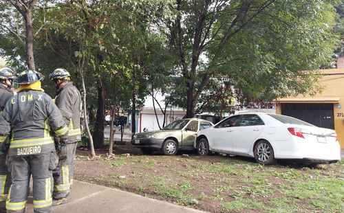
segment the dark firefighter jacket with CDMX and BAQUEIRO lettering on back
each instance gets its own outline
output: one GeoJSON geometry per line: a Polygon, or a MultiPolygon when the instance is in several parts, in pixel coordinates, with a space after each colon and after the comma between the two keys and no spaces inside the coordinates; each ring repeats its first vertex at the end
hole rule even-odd
{"type": "Polygon", "coordinates": [[[50,131],[58,137],[68,131],[57,106],[43,91],[19,91],[0,116],[0,135],[11,133],[8,155],[50,153],[55,150],[50,131]]]}

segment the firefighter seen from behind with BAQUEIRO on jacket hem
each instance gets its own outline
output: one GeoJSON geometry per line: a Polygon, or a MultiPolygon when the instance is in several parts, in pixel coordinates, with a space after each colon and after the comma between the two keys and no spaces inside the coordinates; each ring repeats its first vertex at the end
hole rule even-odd
{"type": "Polygon", "coordinates": [[[50,212],[52,206],[52,170],[58,158],[50,131],[61,137],[57,145],[65,150],[68,129],[52,98],[41,89],[41,80],[43,76],[36,71],[18,74],[18,93],[8,100],[0,115],[0,135],[11,133],[7,166],[12,186],[7,212],[25,212],[31,175],[34,212],[50,212]]]}

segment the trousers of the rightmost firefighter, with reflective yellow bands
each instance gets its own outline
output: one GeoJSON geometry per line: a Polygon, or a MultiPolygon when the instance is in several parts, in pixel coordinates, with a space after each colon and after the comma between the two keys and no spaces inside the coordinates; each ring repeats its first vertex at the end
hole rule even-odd
{"type": "Polygon", "coordinates": [[[53,171],[54,177],[54,199],[63,199],[68,197],[73,184],[74,175],[74,157],[76,153],[75,143],[67,143],[67,156],[58,160],[58,166],[53,171]]]}

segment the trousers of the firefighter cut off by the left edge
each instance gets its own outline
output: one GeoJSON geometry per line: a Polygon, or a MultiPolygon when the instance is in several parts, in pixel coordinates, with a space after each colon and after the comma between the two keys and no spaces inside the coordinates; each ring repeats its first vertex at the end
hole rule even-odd
{"type": "Polygon", "coordinates": [[[10,186],[11,175],[6,166],[6,155],[0,155],[0,212],[6,212],[6,194],[10,186]]]}

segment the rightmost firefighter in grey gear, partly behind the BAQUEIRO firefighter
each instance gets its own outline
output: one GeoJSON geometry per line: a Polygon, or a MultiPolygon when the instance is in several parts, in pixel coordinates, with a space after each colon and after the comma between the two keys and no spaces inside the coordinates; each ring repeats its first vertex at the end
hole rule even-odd
{"type": "Polygon", "coordinates": [[[55,104],[60,109],[69,130],[66,144],[67,157],[58,161],[58,166],[53,172],[53,205],[59,205],[67,202],[73,182],[76,145],[81,140],[81,97],[80,92],[73,85],[67,70],[62,68],[55,69],[49,77],[56,85],[55,104]]]}

